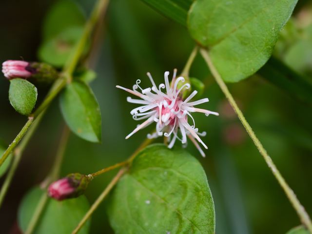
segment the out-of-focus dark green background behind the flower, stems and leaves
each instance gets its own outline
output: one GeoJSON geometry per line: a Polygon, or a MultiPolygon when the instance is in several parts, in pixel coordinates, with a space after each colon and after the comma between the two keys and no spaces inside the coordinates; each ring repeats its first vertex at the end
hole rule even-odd
{"type": "MultiPolygon", "coordinates": [[[[76,2],[88,16],[95,0],[76,2]]],[[[42,21],[54,3],[55,0],[0,1],[0,62],[19,60],[20,57],[26,61],[38,60],[42,21]]],[[[309,9],[309,2],[299,0],[295,17],[299,19],[302,12],[308,12],[305,16],[312,17],[309,9]]],[[[308,20],[304,18],[303,21],[308,20]]],[[[312,39],[308,36],[302,38],[302,35],[307,35],[302,33],[305,28],[294,27],[299,36],[294,33],[290,37],[283,32],[275,54],[290,66],[291,59],[296,64],[307,64],[293,68],[311,75],[312,39]],[[299,49],[292,48],[299,43],[298,40],[310,45],[310,53],[307,47],[303,47],[307,56],[301,56],[299,49]],[[297,51],[297,55],[293,51],[297,51]]],[[[125,136],[138,124],[130,115],[136,104],[127,103],[129,95],[115,86],[131,88],[137,79],[141,79],[141,87],[149,87],[146,72],[152,74],[156,83],[163,82],[165,71],[172,74],[174,68],[178,72],[183,69],[194,45],[184,27],[161,16],[140,0],[110,2],[98,56],[94,59],[97,61],[90,64],[98,74],[91,87],[101,109],[103,143],[90,143],[72,134],[61,175],[74,172],[90,174],[130,156],[155,125],[126,140],[125,136]]],[[[205,151],[206,158],[202,158],[192,144],[187,147],[206,170],[215,200],[216,234],[284,234],[299,225],[300,221],[286,195],[199,55],[190,75],[206,84],[202,97],[209,98],[210,102],[203,104],[202,108],[220,113],[219,117],[194,114],[196,127],[207,132],[207,136],[202,137],[209,148],[205,151]]],[[[39,103],[48,87],[37,87],[39,103]]],[[[9,143],[26,122],[26,117],[10,105],[8,88],[9,81],[2,76],[0,137],[9,143]]],[[[229,84],[229,88],[277,168],[312,215],[312,107],[292,98],[258,75],[229,84]]],[[[47,175],[63,125],[56,98],[28,145],[0,209],[1,234],[19,233],[17,209],[21,198],[47,175]]],[[[109,172],[92,181],[86,191],[91,204],[115,174],[116,171],[109,172]]],[[[3,180],[2,177],[0,184],[3,180]]],[[[90,233],[113,233],[104,203],[92,216],[90,233]]]]}

